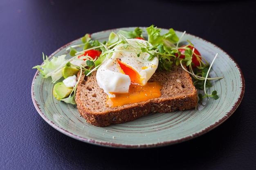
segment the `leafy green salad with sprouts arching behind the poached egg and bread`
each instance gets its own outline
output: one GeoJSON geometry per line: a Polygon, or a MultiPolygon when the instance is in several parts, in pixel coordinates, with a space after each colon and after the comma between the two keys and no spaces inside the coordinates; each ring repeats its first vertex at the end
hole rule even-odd
{"type": "MultiPolygon", "coordinates": [[[[191,74],[195,87],[200,87],[200,89],[204,90],[204,95],[198,95],[200,102],[202,102],[202,99],[205,97],[213,97],[214,99],[219,98],[216,91],[213,91],[211,95],[208,95],[205,88],[211,87],[210,80],[223,77],[209,77],[209,71],[213,63],[210,66],[204,57],[198,56],[193,49],[188,48],[188,46],[193,47],[193,44],[189,40],[187,40],[188,45],[179,46],[179,42],[185,32],[179,38],[171,28],[167,33],[161,35],[161,29],[154,25],[147,27],[146,32],[147,34],[144,37],[143,35],[145,34],[143,34],[143,30],[139,27],[135,28],[133,31],[119,30],[117,33],[111,32],[108,41],[105,42],[92,40],[90,34],[85,34],[85,36],[81,38],[81,44],[70,46],[66,49],[70,52],[70,59],[65,59],[66,55],[60,55],[48,60],[48,57],[43,54],[43,64],[34,66],[33,68],[37,68],[43,78],[51,77],[52,83],[56,83],[63,78],[61,70],[67,63],[67,65],[72,65],[79,69],[80,73],[84,71],[86,76],[90,76],[93,71],[96,71],[103,62],[112,56],[116,46],[122,45],[124,46],[124,51],[126,51],[129,49],[127,47],[131,46],[131,44],[127,42],[127,39],[139,38],[147,40],[152,46],[150,46],[149,43],[146,43],[145,45],[139,42],[136,47],[132,46],[138,57],[140,56],[140,53],[145,52],[149,54],[148,60],[152,60],[153,57],[158,57],[158,71],[172,71],[173,64],[181,65],[185,71],[191,74]],[[185,51],[185,57],[181,57],[181,49],[185,51]],[[100,55],[97,57],[89,56],[88,52],[91,50],[99,51],[100,55]],[[197,66],[193,65],[192,58],[194,56],[198,59],[199,64],[197,66]],[[184,67],[184,65],[186,65],[187,68],[184,67]]],[[[74,97],[80,77],[81,74],[69,97],[60,99],[61,101],[76,104],[74,97]]]]}

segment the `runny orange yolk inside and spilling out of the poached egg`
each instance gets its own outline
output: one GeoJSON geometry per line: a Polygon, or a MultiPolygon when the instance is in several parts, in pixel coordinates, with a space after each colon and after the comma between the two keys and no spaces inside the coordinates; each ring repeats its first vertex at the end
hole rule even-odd
{"type": "Polygon", "coordinates": [[[125,104],[143,102],[148,99],[154,99],[161,96],[162,85],[160,85],[159,82],[147,82],[144,86],[142,86],[140,85],[141,78],[137,71],[121,63],[120,60],[117,61],[123,72],[126,75],[129,75],[131,79],[131,85],[129,87],[128,93],[111,93],[112,95],[115,95],[115,97],[108,98],[106,102],[108,106],[123,106],[125,104]]]}

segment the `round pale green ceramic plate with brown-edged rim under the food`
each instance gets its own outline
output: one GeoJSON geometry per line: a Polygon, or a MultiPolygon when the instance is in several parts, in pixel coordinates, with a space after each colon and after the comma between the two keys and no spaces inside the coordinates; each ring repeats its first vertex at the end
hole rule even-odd
{"type": "MultiPolygon", "coordinates": [[[[135,27],[122,29],[133,30],[135,27]]],[[[146,32],[146,28],[141,29],[146,32]]],[[[118,30],[93,33],[92,39],[103,42],[108,40],[111,31],[118,30]]],[[[162,33],[166,31],[168,30],[162,29],[162,33]]],[[[176,33],[179,37],[182,35],[182,32],[176,33]]],[[[198,110],[155,113],[124,124],[96,127],[88,124],[79,115],[76,106],[58,102],[52,95],[54,84],[51,79],[42,78],[38,71],[31,86],[34,106],[40,116],[56,130],[74,139],[99,146],[151,148],[176,144],[203,135],[234,113],[243,98],[245,81],[238,64],[218,46],[190,34],[186,34],[182,40],[190,40],[210,63],[218,53],[210,76],[225,77],[213,82],[213,87],[210,88],[210,91],[217,90],[220,98],[210,99],[206,106],[200,106],[198,110]]],[[[52,53],[49,58],[62,54],[70,56],[65,49],[80,42],[81,39],[70,42],[52,53]]]]}

